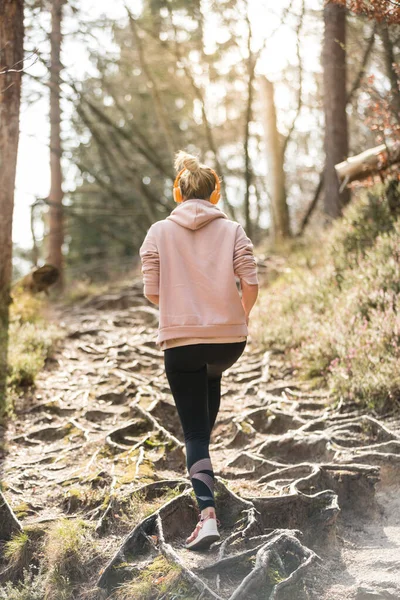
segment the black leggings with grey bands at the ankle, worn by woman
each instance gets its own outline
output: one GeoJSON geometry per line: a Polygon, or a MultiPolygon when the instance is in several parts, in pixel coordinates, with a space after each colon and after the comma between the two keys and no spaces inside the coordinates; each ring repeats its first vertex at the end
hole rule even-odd
{"type": "Polygon", "coordinates": [[[181,420],[186,464],[200,510],[215,506],[208,447],[221,401],[222,372],[238,360],[245,347],[246,341],[164,350],[165,373],[181,420]]]}

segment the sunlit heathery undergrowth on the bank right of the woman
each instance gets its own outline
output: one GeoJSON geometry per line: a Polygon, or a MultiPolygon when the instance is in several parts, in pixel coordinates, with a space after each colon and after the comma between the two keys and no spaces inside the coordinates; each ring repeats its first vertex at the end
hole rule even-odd
{"type": "Polygon", "coordinates": [[[255,336],[300,378],[378,411],[400,401],[399,214],[399,183],[360,193],[320,239],[294,245],[255,311],[255,336]]]}

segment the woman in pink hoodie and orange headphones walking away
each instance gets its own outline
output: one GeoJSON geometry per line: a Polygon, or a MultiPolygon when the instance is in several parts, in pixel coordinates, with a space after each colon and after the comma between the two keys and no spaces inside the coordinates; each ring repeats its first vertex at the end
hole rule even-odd
{"type": "Polygon", "coordinates": [[[253,245],[217,206],[220,181],[195,156],[178,152],[174,200],[139,250],[144,295],[159,304],[156,343],[178,410],[200,520],[186,548],[219,539],[210,434],[221,399],[222,372],[242,355],[258,295],[253,245]],[[235,276],[240,280],[240,298],[235,276]]]}

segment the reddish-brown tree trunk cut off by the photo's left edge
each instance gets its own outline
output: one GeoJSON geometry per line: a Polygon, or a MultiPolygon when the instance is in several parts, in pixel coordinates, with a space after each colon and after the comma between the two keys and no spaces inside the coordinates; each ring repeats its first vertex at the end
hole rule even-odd
{"type": "Polygon", "coordinates": [[[0,416],[5,407],[12,219],[24,58],[23,0],[0,2],[0,416]]]}

